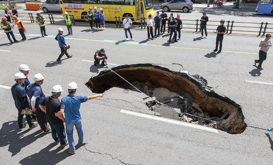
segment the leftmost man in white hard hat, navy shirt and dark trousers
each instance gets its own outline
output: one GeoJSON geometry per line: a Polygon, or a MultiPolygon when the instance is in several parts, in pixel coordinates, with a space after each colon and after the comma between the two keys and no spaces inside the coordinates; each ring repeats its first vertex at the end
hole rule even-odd
{"type": "MultiPolygon", "coordinates": [[[[27,94],[25,89],[21,86],[21,84],[25,83],[26,76],[23,73],[16,73],[14,75],[14,80],[16,84],[11,87],[12,97],[15,102],[15,107],[18,109],[18,126],[19,130],[22,130],[26,127],[23,123],[24,114],[21,114],[22,110],[29,111],[29,102],[27,99],[27,94]]],[[[33,123],[30,115],[26,115],[26,121],[29,126],[29,129],[37,127],[37,123],[33,123]]]]}

